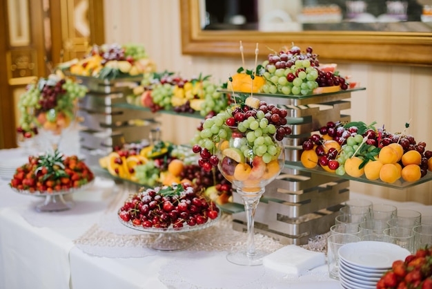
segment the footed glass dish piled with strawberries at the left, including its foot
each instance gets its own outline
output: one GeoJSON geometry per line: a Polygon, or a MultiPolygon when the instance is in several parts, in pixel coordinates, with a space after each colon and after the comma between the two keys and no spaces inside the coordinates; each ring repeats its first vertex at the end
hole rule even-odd
{"type": "Polygon", "coordinates": [[[36,205],[37,211],[55,212],[71,209],[74,203],[65,201],[63,195],[88,189],[94,179],[84,160],[56,149],[29,156],[28,162],[16,169],[9,185],[19,194],[45,196],[45,201],[36,205]]]}

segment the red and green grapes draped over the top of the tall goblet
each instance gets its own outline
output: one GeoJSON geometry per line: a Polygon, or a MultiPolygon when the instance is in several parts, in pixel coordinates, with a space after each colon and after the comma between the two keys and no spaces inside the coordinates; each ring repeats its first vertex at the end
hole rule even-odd
{"type": "Polygon", "coordinates": [[[232,104],[222,113],[206,118],[193,142],[193,152],[201,157],[198,164],[210,171],[219,162],[215,155],[216,145],[228,139],[233,133],[246,133],[246,143],[242,147],[245,157],[249,149],[268,163],[277,154],[275,140],[282,140],[291,134],[286,126],[286,109],[248,97],[244,104],[232,104]],[[238,132],[233,132],[237,130],[238,132]]]}

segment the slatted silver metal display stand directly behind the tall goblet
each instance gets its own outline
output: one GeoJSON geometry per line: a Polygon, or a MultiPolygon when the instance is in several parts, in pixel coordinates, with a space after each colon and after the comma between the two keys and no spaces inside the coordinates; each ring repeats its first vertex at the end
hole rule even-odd
{"type": "MultiPolygon", "coordinates": [[[[351,108],[351,93],[363,89],[305,96],[254,94],[259,100],[286,108],[288,124],[293,130],[283,141],[284,170],[266,186],[266,193],[255,212],[257,232],[281,243],[303,245],[313,236],[328,232],[334,224],[340,204],[349,198],[349,180],[335,174],[328,176],[320,171],[302,169],[302,142],[328,120],[350,121],[350,115],[345,115],[344,111],[351,108]]],[[[242,203],[237,194],[233,201],[242,203]]],[[[233,214],[233,227],[246,230],[243,213],[233,214]]]]}

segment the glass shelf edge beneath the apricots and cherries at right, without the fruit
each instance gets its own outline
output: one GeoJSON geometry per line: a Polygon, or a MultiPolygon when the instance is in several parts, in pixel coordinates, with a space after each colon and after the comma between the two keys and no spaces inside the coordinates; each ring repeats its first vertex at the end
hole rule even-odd
{"type": "Polygon", "coordinates": [[[420,185],[422,183],[426,183],[432,180],[432,171],[428,171],[426,176],[420,178],[420,180],[416,182],[406,182],[402,178],[400,178],[399,180],[396,180],[395,183],[389,184],[389,183],[382,182],[382,180],[368,180],[365,176],[362,176],[360,178],[354,178],[352,176],[348,176],[347,174],[345,174],[344,176],[339,176],[337,174],[324,171],[324,169],[322,169],[321,167],[314,167],[313,169],[308,169],[302,165],[302,162],[286,161],[285,166],[290,169],[298,169],[299,171],[307,171],[313,174],[322,174],[324,176],[331,176],[333,178],[342,178],[345,180],[355,180],[361,183],[380,185],[382,187],[389,187],[392,189],[407,189],[409,187],[415,187],[416,185],[420,185]]]}

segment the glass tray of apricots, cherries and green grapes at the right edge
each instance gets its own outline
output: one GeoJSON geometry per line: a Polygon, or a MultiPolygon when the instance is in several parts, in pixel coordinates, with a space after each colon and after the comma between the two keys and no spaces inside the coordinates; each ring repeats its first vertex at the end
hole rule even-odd
{"type": "Polygon", "coordinates": [[[432,179],[432,151],[426,143],[364,122],[328,122],[302,143],[293,168],[404,189],[432,179]]]}

